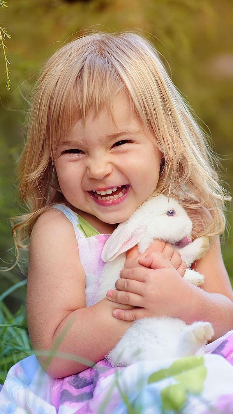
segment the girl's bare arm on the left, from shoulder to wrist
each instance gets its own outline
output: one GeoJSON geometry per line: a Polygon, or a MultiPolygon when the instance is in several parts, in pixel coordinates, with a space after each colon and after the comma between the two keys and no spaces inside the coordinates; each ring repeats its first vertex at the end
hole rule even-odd
{"type": "MultiPolygon", "coordinates": [[[[43,213],[31,234],[26,306],[35,351],[51,350],[62,336],[58,351],[92,363],[103,359],[131,324],[113,317],[115,303],[107,299],[85,307],[85,275],[74,229],[56,209],[43,213]]],[[[43,366],[45,359],[38,359],[43,366]]],[[[69,358],[53,358],[46,372],[64,377],[84,368],[69,358]]]]}

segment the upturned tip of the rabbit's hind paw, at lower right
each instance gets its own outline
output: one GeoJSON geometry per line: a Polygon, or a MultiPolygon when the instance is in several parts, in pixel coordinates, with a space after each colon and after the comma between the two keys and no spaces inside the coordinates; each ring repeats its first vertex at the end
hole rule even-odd
{"type": "Polygon", "coordinates": [[[209,322],[194,322],[185,329],[184,339],[200,347],[207,343],[214,335],[214,330],[209,322]]]}

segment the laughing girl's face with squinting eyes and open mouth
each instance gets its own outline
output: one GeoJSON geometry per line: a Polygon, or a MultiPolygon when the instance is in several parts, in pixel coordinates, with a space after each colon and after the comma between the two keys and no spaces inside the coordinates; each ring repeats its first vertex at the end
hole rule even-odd
{"type": "Polygon", "coordinates": [[[123,94],[112,109],[113,118],[105,108],[79,120],[55,156],[65,199],[100,233],[111,233],[154,192],[162,156],[123,94]]]}

